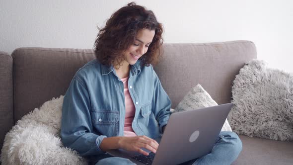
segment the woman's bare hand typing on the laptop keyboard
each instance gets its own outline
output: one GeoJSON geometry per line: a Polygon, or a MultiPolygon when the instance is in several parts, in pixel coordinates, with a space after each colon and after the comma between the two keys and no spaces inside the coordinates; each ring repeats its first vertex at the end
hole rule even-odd
{"type": "Polygon", "coordinates": [[[120,137],[119,148],[122,148],[126,151],[136,151],[145,156],[148,156],[148,153],[141,148],[145,148],[153,153],[156,153],[156,150],[159,147],[159,144],[147,137],[147,136],[135,136],[135,137],[120,137]]]}

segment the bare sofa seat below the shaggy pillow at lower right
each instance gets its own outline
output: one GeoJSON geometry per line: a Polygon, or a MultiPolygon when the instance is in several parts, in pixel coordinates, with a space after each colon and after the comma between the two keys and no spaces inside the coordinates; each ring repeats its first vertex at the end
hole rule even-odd
{"type": "Polygon", "coordinates": [[[242,152],[232,165],[293,165],[293,142],[239,135],[242,152]]]}

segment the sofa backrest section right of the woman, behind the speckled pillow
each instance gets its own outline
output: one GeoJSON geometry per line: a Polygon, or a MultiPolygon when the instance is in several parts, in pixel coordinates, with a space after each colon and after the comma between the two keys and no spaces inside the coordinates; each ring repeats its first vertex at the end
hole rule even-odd
{"type": "Polygon", "coordinates": [[[155,71],[175,108],[200,83],[218,103],[231,100],[231,86],[246,62],[256,58],[251,41],[166,44],[164,60],[155,71]]]}

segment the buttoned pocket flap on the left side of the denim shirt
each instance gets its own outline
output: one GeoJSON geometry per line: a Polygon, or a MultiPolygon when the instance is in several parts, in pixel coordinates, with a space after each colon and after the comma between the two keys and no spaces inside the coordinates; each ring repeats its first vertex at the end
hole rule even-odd
{"type": "Polygon", "coordinates": [[[118,121],[118,111],[95,110],[92,112],[92,122],[94,124],[116,124],[118,121]]]}

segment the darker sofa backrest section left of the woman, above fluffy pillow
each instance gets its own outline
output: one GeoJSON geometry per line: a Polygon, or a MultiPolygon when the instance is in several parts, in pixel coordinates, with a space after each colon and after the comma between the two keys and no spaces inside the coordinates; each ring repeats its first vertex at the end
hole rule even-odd
{"type": "Polygon", "coordinates": [[[14,122],[64,95],[75,72],[95,58],[90,49],[18,48],[13,57],[14,122]]]}

